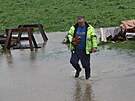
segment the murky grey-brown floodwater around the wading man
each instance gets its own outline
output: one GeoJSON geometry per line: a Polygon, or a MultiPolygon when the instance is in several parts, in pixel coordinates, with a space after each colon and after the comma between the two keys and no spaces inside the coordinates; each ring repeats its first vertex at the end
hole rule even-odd
{"type": "MultiPolygon", "coordinates": [[[[47,33],[45,47],[0,53],[0,101],[134,101],[135,52],[99,47],[92,77],[74,78],[66,32],[47,33]]],[[[42,41],[39,35],[36,40],[42,41]]]]}

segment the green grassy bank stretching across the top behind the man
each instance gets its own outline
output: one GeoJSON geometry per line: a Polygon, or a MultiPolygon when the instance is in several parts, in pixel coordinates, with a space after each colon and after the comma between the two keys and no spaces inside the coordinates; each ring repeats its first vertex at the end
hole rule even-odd
{"type": "Polygon", "coordinates": [[[49,31],[67,31],[84,15],[94,27],[119,26],[134,19],[134,0],[0,0],[0,33],[19,24],[41,23],[49,31]]]}

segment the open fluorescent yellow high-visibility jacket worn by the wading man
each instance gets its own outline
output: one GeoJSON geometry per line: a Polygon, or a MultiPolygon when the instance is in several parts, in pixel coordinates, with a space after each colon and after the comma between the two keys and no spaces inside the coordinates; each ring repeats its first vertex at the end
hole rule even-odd
{"type": "MultiPolygon", "coordinates": [[[[90,54],[92,53],[92,48],[97,48],[97,38],[96,38],[94,28],[87,23],[85,23],[85,25],[86,25],[85,50],[86,50],[86,54],[90,54]]],[[[70,28],[69,33],[68,33],[68,40],[70,42],[69,47],[72,51],[75,50],[74,46],[72,45],[72,39],[75,37],[77,28],[78,28],[78,24],[75,24],[74,26],[70,28]]]]}

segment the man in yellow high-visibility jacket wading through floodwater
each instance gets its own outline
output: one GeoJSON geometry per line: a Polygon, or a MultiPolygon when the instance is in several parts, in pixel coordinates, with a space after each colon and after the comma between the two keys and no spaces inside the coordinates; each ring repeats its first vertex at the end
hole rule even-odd
{"type": "Polygon", "coordinates": [[[97,51],[97,40],[94,28],[89,25],[83,16],[78,16],[77,23],[72,26],[68,33],[70,42],[70,63],[75,68],[75,78],[79,77],[81,68],[79,60],[85,69],[85,78],[90,78],[90,54],[97,51]]]}

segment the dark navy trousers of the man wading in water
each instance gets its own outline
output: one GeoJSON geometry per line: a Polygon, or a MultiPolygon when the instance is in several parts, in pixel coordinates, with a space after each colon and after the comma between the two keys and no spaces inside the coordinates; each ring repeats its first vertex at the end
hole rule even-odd
{"type": "Polygon", "coordinates": [[[85,51],[75,51],[71,53],[70,63],[77,71],[81,71],[81,67],[78,63],[79,60],[81,61],[82,67],[85,69],[85,76],[90,76],[90,54],[86,54],[85,51]]]}

